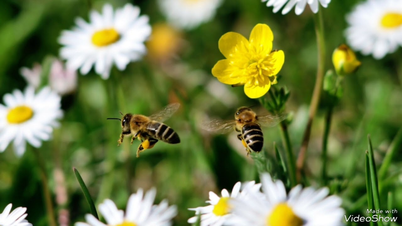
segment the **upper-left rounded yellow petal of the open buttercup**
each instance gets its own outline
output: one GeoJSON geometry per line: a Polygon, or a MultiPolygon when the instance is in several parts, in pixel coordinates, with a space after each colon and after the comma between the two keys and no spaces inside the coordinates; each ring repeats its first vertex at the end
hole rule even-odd
{"type": "Polygon", "coordinates": [[[219,39],[219,50],[226,58],[234,57],[247,50],[248,40],[239,33],[228,32],[219,39]]]}

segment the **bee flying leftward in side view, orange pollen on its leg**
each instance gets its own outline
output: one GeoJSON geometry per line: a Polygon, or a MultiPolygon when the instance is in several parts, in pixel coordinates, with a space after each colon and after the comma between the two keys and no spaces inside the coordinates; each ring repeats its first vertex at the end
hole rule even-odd
{"type": "Polygon", "coordinates": [[[172,128],[162,123],[170,118],[179,107],[179,103],[172,103],[150,117],[145,115],[133,115],[131,113],[123,115],[120,112],[122,115],[121,119],[107,118],[121,121],[122,132],[119,140],[117,140],[117,146],[120,146],[125,136],[131,136],[131,144],[133,144],[135,138],[138,138],[138,140],[141,140],[141,144],[137,149],[138,158],[139,152],[153,148],[158,140],[162,140],[168,144],[180,143],[180,138],[177,133],[172,128]]]}

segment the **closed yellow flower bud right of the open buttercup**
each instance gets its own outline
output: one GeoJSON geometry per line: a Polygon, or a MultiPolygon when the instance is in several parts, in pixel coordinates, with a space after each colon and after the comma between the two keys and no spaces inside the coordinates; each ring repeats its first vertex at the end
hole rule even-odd
{"type": "Polygon", "coordinates": [[[332,53],[332,63],[339,75],[351,74],[357,70],[361,62],[355,53],[345,44],[340,45],[332,53]]]}

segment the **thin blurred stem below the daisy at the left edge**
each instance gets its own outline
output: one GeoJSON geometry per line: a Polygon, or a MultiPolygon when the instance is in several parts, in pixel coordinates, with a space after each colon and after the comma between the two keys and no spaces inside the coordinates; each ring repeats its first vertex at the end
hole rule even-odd
{"type": "Polygon", "coordinates": [[[45,162],[43,162],[43,158],[41,157],[39,150],[37,148],[33,148],[33,153],[35,154],[39,166],[39,174],[42,182],[43,196],[45,198],[47,220],[49,221],[50,226],[56,226],[57,224],[54,215],[54,207],[51,200],[49,185],[47,184],[45,162]]]}

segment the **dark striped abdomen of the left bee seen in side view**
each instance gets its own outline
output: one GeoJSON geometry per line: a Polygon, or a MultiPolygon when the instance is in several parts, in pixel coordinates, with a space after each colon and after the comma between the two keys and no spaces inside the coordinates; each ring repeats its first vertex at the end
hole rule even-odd
{"type": "Polygon", "coordinates": [[[160,122],[150,122],[147,127],[147,133],[149,136],[156,138],[158,140],[162,140],[163,142],[169,144],[177,144],[180,143],[180,138],[177,133],[167,125],[160,122]]]}

